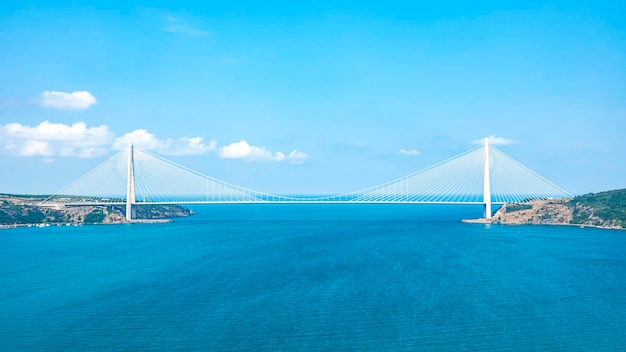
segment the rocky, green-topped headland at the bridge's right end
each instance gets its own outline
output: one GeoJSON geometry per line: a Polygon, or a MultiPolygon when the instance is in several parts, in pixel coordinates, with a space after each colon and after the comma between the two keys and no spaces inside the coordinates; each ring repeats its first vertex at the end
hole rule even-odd
{"type": "Polygon", "coordinates": [[[625,229],[626,189],[589,193],[569,199],[507,203],[487,222],[625,229]]]}

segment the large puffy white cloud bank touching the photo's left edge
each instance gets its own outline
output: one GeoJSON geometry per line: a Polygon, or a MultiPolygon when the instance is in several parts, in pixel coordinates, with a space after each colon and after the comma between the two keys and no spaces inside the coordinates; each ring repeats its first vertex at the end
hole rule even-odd
{"type": "Polygon", "coordinates": [[[0,126],[0,152],[24,157],[93,158],[106,154],[112,139],[106,125],[87,127],[84,122],[65,125],[44,121],[37,126],[14,122],[0,126]]]}

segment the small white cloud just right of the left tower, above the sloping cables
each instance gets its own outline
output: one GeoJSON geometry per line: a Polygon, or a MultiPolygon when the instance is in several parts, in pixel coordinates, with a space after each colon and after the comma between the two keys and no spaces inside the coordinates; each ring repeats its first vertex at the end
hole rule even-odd
{"type": "Polygon", "coordinates": [[[292,150],[289,154],[272,153],[265,147],[255,147],[245,140],[234,142],[219,148],[219,157],[224,159],[244,159],[248,161],[289,161],[302,163],[308,157],[306,153],[292,150]]]}

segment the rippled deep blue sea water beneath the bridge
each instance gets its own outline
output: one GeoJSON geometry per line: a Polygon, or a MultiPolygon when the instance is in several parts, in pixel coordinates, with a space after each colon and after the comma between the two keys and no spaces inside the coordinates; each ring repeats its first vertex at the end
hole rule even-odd
{"type": "Polygon", "coordinates": [[[210,205],[0,230],[1,351],[624,351],[626,232],[210,205]]]}

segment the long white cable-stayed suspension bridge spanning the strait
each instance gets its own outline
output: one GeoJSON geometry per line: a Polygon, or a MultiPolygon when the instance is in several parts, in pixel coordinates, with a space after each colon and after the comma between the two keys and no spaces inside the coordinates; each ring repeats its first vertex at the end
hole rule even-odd
{"type": "Polygon", "coordinates": [[[293,197],[255,191],[204,175],[129,144],[42,205],[125,205],[126,219],[140,204],[406,203],[493,204],[572,195],[513,160],[486,138],[455,157],[395,180],[350,193],[293,197]]]}

